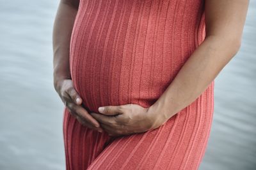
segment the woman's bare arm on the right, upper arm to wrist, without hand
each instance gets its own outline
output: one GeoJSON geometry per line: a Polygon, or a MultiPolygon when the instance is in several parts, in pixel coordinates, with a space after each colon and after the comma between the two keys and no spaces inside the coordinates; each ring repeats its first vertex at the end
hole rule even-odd
{"type": "Polygon", "coordinates": [[[152,129],[195,101],[236,55],[241,45],[248,3],[248,0],[205,1],[206,38],[162,96],[148,108],[148,112],[154,115],[152,129]]]}

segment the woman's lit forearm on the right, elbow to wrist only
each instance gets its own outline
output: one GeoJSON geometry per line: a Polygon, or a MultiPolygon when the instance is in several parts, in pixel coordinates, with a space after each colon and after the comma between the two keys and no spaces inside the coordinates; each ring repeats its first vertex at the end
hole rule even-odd
{"type": "Polygon", "coordinates": [[[205,38],[161,97],[150,106],[150,113],[155,114],[157,118],[154,126],[159,125],[159,122],[163,124],[175,113],[195,101],[234,57],[239,46],[240,42],[236,40],[230,41],[218,36],[205,38]]]}

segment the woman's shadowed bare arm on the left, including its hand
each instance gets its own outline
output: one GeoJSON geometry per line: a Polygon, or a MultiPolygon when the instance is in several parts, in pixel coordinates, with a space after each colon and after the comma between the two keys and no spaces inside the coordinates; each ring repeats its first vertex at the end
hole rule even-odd
{"type": "Polygon", "coordinates": [[[70,76],[70,38],[76,19],[79,0],[61,0],[52,32],[54,89],[77,120],[91,129],[102,131],[99,122],[86,111],[82,99],[74,89],[70,76]]]}

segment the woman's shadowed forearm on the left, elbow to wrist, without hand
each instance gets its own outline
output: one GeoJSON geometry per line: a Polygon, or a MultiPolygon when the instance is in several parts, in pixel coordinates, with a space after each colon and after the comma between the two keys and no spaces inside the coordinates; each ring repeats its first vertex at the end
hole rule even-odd
{"type": "Polygon", "coordinates": [[[54,20],[52,32],[54,84],[63,78],[70,78],[70,37],[77,8],[72,3],[61,1],[54,20]]]}

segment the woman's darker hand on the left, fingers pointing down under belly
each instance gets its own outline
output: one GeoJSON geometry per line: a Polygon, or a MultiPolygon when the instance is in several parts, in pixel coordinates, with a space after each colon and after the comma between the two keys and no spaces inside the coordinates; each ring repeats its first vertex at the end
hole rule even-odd
{"type": "Polygon", "coordinates": [[[100,128],[99,122],[81,106],[82,99],[74,88],[71,79],[63,79],[54,82],[54,89],[58,92],[71,115],[77,118],[81,124],[99,132],[103,131],[103,129],[100,128]]]}

